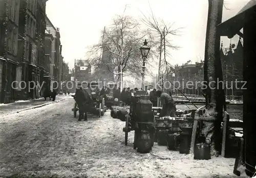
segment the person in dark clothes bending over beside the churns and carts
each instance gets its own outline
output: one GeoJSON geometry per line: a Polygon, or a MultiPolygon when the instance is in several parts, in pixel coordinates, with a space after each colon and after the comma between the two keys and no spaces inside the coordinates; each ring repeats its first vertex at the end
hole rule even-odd
{"type": "Polygon", "coordinates": [[[157,96],[160,97],[160,101],[162,104],[162,110],[159,114],[159,117],[163,117],[163,116],[175,117],[176,105],[172,96],[160,90],[157,91],[157,96]]]}

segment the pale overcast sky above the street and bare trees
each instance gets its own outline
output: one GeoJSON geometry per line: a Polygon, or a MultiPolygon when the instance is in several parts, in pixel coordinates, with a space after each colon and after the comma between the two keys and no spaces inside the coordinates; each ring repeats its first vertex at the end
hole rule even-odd
{"type": "MultiPolygon", "coordinates": [[[[224,0],[222,21],[236,15],[249,0],[224,0]]],[[[55,27],[60,29],[62,55],[69,67],[75,59],[84,59],[89,46],[97,44],[104,26],[112,24],[116,14],[122,14],[125,5],[127,15],[140,20],[142,13],[148,16],[150,6],[154,15],[165,23],[175,22],[174,28],[183,28],[180,36],[172,36],[173,43],[181,48],[169,52],[172,64],[183,64],[204,59],[207,0],[48,0],[46,13],[55,27]],[[142,12],[142,13],[141,13],[142,12]]],[[[142,23],[143,26],[143,23],[142,23]]],[[[238,36],[231,39],[237,44],[238,36]]],[[[223,45],[230,39],[222,37],[223,45]]],[[[150,44],[148,44],[150,46],[150,44]]],[[[152,69],[157,72],[157,67],[152,69]]]]}

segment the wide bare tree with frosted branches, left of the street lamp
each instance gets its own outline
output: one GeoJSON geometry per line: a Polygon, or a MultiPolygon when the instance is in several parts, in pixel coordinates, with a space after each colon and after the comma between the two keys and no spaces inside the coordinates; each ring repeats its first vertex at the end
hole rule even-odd
{"type": "Polygon", "coordinates": [[[92,47],[90,53],[96,54],[93,60],[95,66],[106,66],[108,70],[119,77],[122,89],[123,77],[132,75],[135,78],[141,75],[142,59],[140,46],[148,32],[140,30],[140,25],[131,16],[117,15],[113,24],[107,27],[102,36],[104,39],[92,47]],[[108,61],[102,61],[98,56],[99,49],[105,48],[110,56],[108,61]]]}

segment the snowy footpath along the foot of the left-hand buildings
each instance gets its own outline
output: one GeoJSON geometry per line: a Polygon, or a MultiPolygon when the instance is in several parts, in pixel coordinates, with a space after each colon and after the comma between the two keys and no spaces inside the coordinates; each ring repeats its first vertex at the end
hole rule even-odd
{"type": "Polygon", "coordinates": [[[17,100],[14,103],[0,104],[0,116],[18,113],[25,110],[40,108],[46,105],[50,105],[55,102],[67,99],[69,95],[57,95],[55,101],[47,98],[31,99],[31,100],[17,100]]]}

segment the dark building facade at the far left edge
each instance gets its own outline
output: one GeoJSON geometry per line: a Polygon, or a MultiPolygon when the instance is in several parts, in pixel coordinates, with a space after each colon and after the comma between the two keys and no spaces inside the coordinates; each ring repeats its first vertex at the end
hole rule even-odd
{"type": "Polygon", "coordinates": [[[0,103],[16,98],[12,82],[16,80],[18,58],[19,0],[0,1],[0,103]]]}

